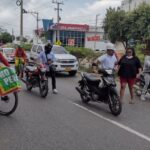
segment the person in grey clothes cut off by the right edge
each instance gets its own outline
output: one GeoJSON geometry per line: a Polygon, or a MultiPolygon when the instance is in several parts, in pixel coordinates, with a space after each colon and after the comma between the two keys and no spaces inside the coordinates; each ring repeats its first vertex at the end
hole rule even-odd
{"type": "Polygon", "coordinates": [[[150,84],[150,56],[145,57],[143,74],[144,74],[145,85],[144,85],[144,88],[142,89],[141,100],[145,101],[146,100],[146,98],[145,98],[146,91],[150,84]]]}

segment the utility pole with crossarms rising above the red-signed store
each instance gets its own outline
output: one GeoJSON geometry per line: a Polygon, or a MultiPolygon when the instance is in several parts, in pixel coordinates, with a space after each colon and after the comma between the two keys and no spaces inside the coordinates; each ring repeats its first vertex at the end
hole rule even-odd
{"type": "MultiPolygon", "coordinates": [[[[57,4],[57,8],[55,8],[55,10],[57,11],[57,25],[59,25],[59,22],[61,20],[60,15],[59,15],[59,11],[62,11],[62,9],[60,8],[60,5],[63,5],[63,1],[60,0],[52,0],[52,3],[57,4]]],[[[59,29],[56,29],[56,41],[59,41],[59,29]]]]}

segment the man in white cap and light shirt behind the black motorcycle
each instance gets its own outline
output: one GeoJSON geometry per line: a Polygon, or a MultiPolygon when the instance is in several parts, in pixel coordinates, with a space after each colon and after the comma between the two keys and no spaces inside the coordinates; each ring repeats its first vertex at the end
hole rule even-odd
{"type": "Polygon", "coordinates": [[[112,43],[108,43],[106,49],[107,53],[97,59],[99,69],[115,69],[118,62],[115,55],[115,46],[112,43]]]}

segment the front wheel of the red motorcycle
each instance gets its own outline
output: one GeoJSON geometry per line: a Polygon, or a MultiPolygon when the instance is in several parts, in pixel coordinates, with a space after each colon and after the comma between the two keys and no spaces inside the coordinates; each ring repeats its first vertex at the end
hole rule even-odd
{"type": "Polygon", "coordinates": [[[45,98],[48,94],[48,81],[41,81],[40,82],[40,95],[41,97],[45,98]]]}

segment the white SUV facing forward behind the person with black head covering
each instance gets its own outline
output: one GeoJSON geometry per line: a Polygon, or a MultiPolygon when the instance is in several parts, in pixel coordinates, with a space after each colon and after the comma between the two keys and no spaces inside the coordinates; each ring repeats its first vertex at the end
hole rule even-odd
{"type": "MultiPolygon", "coordinates": [[[[30,59],[37,59],[41,51],[44,51],[43,44],[35,44],[31,48],[30,59]]],[[[68,72],[70,75],[75,75],[78,71],[79,64],[75,56],[69,54],[64,47],[53,45],[52,52],[56,58],[53,63],[57,72],[68,72]]]]}

